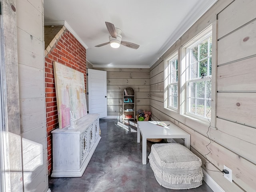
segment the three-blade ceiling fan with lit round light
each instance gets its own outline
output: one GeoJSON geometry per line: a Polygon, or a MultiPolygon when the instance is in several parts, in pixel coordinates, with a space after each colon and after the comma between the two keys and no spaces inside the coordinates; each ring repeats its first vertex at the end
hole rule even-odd
{"type": "Polygon", "coordinates": [[[109,32],[109,42],[96,45],[95,47],[101,47],[101,46],[110,44],[111,47],[118,48],[121,44],[123,46],[133,48],[133,49],[139,48],[139,45],[137,45],[135,43],[122,41],[122,36],[121,36],[122,30],[120,30],[119,28],[115,28],[114,24],[112,24],[110,22],[105,22],[105,23],[106,23],[106,26],[107,26],[107,29],[109,32]]]}

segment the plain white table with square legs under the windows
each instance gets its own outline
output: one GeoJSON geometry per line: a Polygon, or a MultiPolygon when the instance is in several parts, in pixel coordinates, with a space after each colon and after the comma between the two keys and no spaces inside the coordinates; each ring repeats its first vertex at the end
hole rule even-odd
{"type": "Polygon", "coordinates": [[[142,136],[142,164],[147,164],[147,139],[154,138],[182,138],[184,145],[190,150],[190,134],[182,130],[169,121],[164,121],[168,126],[156,125],[154,121],[138,121],[137,142],[140,143],[140,134],[142,136]]]}

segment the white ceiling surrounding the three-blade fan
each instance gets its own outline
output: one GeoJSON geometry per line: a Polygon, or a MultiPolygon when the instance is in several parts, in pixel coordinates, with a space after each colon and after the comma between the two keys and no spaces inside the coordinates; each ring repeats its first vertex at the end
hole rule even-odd
{"type": "Polygon", "coordinates": [[[45,23],[65,21],[88,46],[94,67],[149,68],[217,0],[44,0],[45,23]],[[108,42],[105,21],[140,47],[94,47],[108,42]]]}

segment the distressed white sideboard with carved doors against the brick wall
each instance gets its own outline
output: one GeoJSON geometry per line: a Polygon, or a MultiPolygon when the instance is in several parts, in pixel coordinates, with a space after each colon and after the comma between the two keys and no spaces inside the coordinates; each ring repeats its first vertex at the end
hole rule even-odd
{"type": "Polygon", "coordinates": [[[87,114],[75,129],[52,131],[52,177],[80,177],[100,142],[99,114],[87,114]]]}

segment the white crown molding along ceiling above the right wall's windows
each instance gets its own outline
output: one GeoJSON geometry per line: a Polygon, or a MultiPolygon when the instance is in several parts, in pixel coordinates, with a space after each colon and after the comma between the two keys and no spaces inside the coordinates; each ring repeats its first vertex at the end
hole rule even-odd
{"type": "MultiPolygon", "coordinates": [[[[184,20],[180,23],[180,28],[177,28],[174,33],[166,40],[166,43],[159,49],[158,55],[162,56],[204,13],[206,13],[218,0],[204,1],[201,4],[197,4],[193,8],[193,12],[190,12],[184,20]]],[[[150,67],[154,65],[157,60],[153,60],[150,67]]]]}

